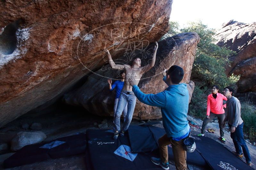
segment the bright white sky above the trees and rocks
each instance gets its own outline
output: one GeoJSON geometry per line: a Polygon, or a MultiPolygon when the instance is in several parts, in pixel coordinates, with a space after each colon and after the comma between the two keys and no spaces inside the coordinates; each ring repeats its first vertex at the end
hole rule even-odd
{"type": "Polygon", "coordinates": [[[173,0],[170,20],[183,27],[189,21],[201,20],[218,28],[229,20],[243,23],[256,21],[256,0],[173,0]]]}

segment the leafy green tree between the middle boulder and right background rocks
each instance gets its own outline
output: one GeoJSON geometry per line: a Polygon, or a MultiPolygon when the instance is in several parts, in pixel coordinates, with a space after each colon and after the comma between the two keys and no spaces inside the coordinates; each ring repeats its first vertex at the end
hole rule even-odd
{"type": "Polygon", "coordinates": [[[240,76],[227,77],[225,74],[225,67],[230,65],[228,57],[236,52],[214,44],[216,39],[213,29],[199,21],[189,23],[188,27],[181,29],[181,32],[196,32],[200,36],[191,73],[193,80],[203,82],[201,84],[208,88],[218,85],[221,89],[234,85],[239,80],[240,76]]]}

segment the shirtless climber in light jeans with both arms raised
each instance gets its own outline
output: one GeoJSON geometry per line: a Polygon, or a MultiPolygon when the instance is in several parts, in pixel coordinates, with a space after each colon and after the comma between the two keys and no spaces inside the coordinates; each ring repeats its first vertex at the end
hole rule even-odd
{"type": "Polygon", "coordinates": [[[114,124],[115,124],[116,131],[114,133],[113,139],[115,139],[115,140],[118,137],[118,132],[121,130],[120,116],[124,110],[124,107],[126,106],[126,103],[127,103],[127,115],[126,115],[126,119],[125,119],[124,125],[122,127],[122,130],[120,131],[121,137],[124,136],[124,132],[128,129],[128,127],[132,121],[132,115],[133,115],[133,111],[134,111],[135,104],[136,104],[136,96],[132,92],[132,86],[130,85],[128,80],[130,78],[135,79],[136,85],[139,84],[141,76],[144,73],[146,73],[150,68],[154,67],[155,61],[156,61],[157,48],[158,48],[158,44],[156,42],[153,58],[152,58],[150,64],[148,64],[144,67],[140,67],[141,66],[140,58],[135,58],[132,61],[132,66],[130,66],[128,64],[124,64],[124,65],[115,64],[111,58],[109,51],[106,49],[106,52],[108,53],[108,61],[109,61],[110,66],[113,69],[117,69],[117,70],[125,69],[125,71],[126,71],[125,79],[124,79],[124,87],[121,90],[121,93],[119,96],[116,113],[115,113],[115,118],[114,118],[114,124]]]}

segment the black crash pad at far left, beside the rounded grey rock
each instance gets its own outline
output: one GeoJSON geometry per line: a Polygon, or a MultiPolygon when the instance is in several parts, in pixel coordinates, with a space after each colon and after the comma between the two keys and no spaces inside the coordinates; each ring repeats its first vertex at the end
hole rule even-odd
{"type": "MultiPolygon", "coordinates": [[[[53,145],[50,145],[53,146],[53,145]]],[[[84,153],[86,148],[85,134],[76,134],[55,140],[27,145],[4,160],[4,167],[10,168],[43,161],[50,158],[61,158],[84,153]],[[60,145],[47,148],[50,144],[60,145]],[[40,148],[41,147],[41,148],[40,148]],[[42,148],[45,147],[45,148],[42,148]]]]}

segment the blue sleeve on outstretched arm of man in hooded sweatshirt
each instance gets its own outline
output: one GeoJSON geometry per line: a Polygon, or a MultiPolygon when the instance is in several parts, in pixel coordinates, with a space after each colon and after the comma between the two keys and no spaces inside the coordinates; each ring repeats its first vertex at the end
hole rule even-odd
{"type": "Polygon", "coordinates": [[[144,94],[140,91],[140,88],[136,85],[132,86],[132,91],[135,96],[139,99],[140,102],[145,103],[150,106],[165,107],[166,105],[166,96],[164,92],[157,94],[144,94]]]}

